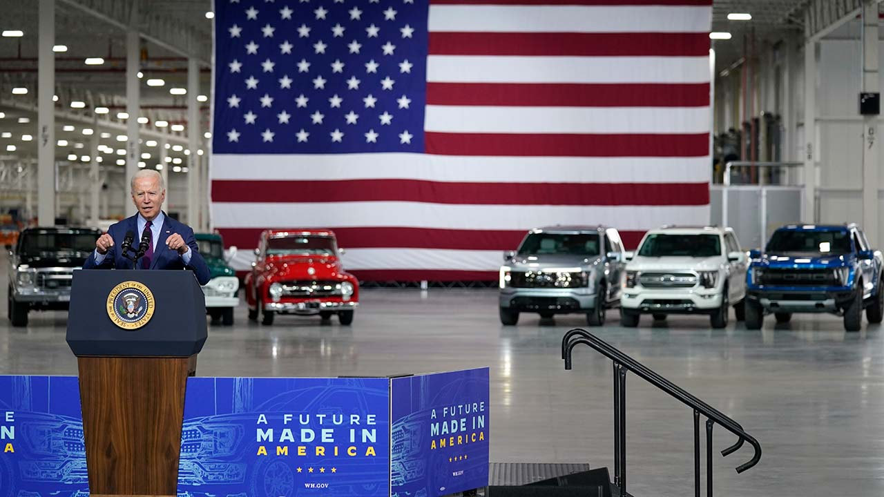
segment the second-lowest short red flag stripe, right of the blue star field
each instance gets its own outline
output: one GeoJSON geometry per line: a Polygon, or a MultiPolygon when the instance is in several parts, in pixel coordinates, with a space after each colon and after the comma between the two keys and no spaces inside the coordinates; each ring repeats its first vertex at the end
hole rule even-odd
{"type": "Polygon", "coordinates": [[[709,83],[427,83],[429,105],[705,107],[709,83]]]}

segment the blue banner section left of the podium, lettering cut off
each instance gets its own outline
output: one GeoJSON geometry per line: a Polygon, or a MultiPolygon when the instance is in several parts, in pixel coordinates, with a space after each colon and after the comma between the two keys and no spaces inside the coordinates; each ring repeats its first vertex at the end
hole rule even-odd
{"type": "Polygon", "coordinates": [[[76,377],[0,376],[0,496],[88,495],[76,377]]]}

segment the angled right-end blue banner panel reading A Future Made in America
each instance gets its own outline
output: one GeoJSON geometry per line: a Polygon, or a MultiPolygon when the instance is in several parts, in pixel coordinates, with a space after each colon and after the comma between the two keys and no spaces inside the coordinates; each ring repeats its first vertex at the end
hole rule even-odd
{"type": "Polygon", "coordinates": [[[488,368],[392,379],[391,495],[488,485],[488,368]]]}

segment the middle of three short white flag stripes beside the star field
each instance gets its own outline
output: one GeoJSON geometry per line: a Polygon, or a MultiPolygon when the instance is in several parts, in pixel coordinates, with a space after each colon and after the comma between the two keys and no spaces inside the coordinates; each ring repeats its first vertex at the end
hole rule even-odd
{"type": "Polygon", "coordinates": [[[706,83],[709,57],[427,57],[427,80],[448,83],[706,83]]]}

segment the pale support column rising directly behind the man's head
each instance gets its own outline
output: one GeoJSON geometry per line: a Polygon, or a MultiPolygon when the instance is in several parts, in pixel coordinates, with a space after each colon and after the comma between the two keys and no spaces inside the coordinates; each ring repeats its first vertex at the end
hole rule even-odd
{"type": "Polygon", "coordinates": [[[132,2],[132,12],[129,18],[129,30],[126,32],[126,187],[123,197],[123,212],[131,216],[136,212],[129,192],[132,177],[138,172],[138,161],[141,160],[141,152],[138,143],[138,117],[141,115],[141,87],[138,80],[138,71],[141,62],[141,40],[138,35],[138,2],[132,2]]]}

